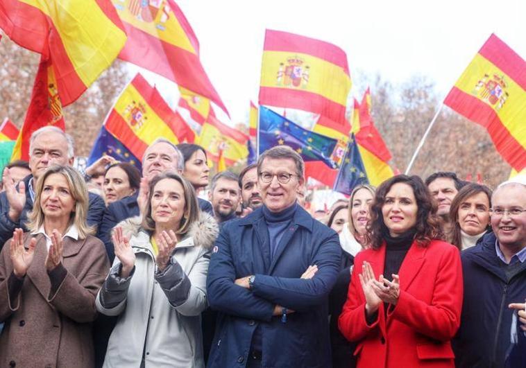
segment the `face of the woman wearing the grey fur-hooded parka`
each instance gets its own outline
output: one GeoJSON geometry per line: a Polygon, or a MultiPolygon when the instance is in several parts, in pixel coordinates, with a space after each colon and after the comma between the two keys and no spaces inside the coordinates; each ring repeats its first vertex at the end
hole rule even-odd
{"type": "Polygon", "coordinates": [[[156,228],[179,229],[185,207],[185,190],[180,182],[167,178],[155,184],[151,196],[151,218],[156,228]]]}

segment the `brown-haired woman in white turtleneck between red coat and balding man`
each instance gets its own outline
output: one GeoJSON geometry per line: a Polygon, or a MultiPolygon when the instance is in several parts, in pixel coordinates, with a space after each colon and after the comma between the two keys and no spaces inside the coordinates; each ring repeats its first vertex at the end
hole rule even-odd
{"type": "Polygon", "coordinates": [[[477,240],[490,229],[490,208],[491,189],[481,184],[466,184],[451,202],[450,243],[460,250],[477,244],[477,240]]]}

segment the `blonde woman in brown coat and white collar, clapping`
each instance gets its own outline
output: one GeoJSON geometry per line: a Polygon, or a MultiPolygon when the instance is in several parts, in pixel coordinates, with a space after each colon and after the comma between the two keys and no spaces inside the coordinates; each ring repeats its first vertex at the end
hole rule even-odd
{"type": "Polygon", "coordinates": [[[86,224],[88,194],[73,168],[38,179],[27,224],[0,254],[0,367],[93,367],[95,297],[110,264],[86,224]]]}

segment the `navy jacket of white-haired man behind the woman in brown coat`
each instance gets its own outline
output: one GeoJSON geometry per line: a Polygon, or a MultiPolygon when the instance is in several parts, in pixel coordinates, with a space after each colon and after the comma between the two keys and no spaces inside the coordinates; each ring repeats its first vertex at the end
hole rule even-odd
{"type": "MultiPolygon", "coordinates": [[[[17,227],[22,228],[24,231],[28,231],[26,222],[28,222],[28,214],[33,211],[33,200],[29,194],[29,181],[33,178],[33,175],[24,177],[24,184],[26,184],[26,204],[20,214],[20,218],[17,222],[10,220],[9,213],[9,202],[6,192],[0,193],[0,249],[2,249],[4,243],[12,238],[12,232],[17,227]]],[[[36,184],[36,183],[35,183],[36,184]]],[[[34,185],[35,185],[34,184],[34,185]]],[[[36,186],[33,186],[36,189],[36,186]]],[[[100,195],[94,193],[88,193],[90,195],[90,207],[87,209],[87,225],[99,227],[104,213],[105,204],[104,200],[100,195]]]]}

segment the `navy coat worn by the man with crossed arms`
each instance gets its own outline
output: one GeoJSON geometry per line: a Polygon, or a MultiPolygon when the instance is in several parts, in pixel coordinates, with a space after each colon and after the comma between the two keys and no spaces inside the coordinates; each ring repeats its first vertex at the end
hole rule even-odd
{"type": "Polygon", "coordinates": [[[210,306],[219,310],[207,367],[244,367],[258,325],[262,367],[330,367],[328,295],[340,256],[336,232],[299,206],[272,260],[262,208],[226,223],[207,277],[210,306]],[[300,279],[309,265],[318,272],[300,279]],[[235,285],[251,274],[251,290],[235,285]],[[296,312],[283,323],[272,315],[276,304],[296,312]]]}

